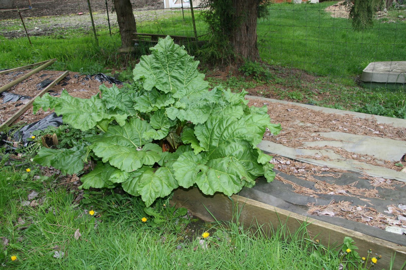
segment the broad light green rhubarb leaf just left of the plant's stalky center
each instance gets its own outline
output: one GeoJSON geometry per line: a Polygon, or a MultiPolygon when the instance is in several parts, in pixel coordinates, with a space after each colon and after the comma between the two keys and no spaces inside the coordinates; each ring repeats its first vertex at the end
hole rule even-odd
{"type": "Polygon", "coordinates": [[[109,125],[107,132],[93,141],[90,147],[98,157],[102,157],[103,162],[132,172],[143,164],[153,165],[161,159],[162,149],[156,144],[146,144],[152,138],[143,137],[151,129],[147,121],[133,117],[123,126],[109,125]]]}

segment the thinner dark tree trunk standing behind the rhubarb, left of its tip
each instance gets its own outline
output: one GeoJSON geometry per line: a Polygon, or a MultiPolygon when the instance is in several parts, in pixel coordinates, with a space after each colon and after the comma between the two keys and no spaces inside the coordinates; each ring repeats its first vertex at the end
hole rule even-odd
{"type": "Polygon", "coordinates": [[[117,13],[117,21],[119,23],[121,34],[121,46],[132,47],[134,32],[137,32],[134,13],[132,13],[132,5],[130,0],[114,0],[114,8],[117,13]]]}

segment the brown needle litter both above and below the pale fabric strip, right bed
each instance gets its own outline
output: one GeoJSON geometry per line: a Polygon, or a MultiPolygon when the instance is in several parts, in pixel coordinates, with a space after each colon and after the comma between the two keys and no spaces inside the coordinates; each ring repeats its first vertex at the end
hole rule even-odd
{"type": "MultiPolygon", "coordinates": [[[[283,130],[278,135],[265,132],[263,139],[295,149],[330,149],[341,155],[344,159],[353,159],[365,162],[374,166],[382,166],[391,170],[400,171],[402,167],[396,166],[400,163],[406,166],[406,161],[389,162],[380,160],[371,155],[352,153],[333,146],[306,146],[305,142],[334,141],[334,138],[326,138],[319,135],[319,132],[344,132],[349,134],[364,135],[379,138],[391,138],[393,140],[406,140],[406,129],[395,127],[390,124],[378,123],[374,118],[358,118],[351,114],[338,115],[324,113],[310,108],[304,108],[294,104],[281,104],[277,102],[263,102],[263,100],[249,100],[249,106],[268,107],[268,114],[273,123],[281,123],[283,130]]],[[[299,155],[302,158],[315,160],[328,160],[329,157],[321,154],[299,155]]]]}

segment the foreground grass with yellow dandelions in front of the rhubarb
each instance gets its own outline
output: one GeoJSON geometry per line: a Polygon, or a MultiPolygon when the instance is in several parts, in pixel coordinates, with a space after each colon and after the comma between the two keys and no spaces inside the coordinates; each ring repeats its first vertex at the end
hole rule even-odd
{"type": "Polygon", "coordinates": [[[339,258],[333,248],[313,241],[304,227],[297,232],[279,227],[267,238],[238,223],[204,224],[176,217],[168,199],[154,204],[165,220],[155,227],[139,198],[94,190],[77,202],[75,183],[58,174],[43,176],[43,169],[23,156],[16,161],[4,148],[1,153],[4,269],[318,270],[321,265],[336,269],[350,258],[339,258]],[[210,236],[202,238],[206,231],[210,236]]]}

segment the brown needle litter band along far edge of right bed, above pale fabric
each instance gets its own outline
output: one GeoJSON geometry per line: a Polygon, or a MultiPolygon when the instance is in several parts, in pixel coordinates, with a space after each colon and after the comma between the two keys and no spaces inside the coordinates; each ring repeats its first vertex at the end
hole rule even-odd
{"type": "Polygon", "coordinates": [[[278,143],[286,140],[282,144],[289,147],[301,146],[302,142],[321,139],[334,140],[320,138],[313,134],[330,131],[406,140],[405,128],[379,123],[374,118],[358,118],[350,113],[345,115],[324,113],[294,104],[263,102],[263,100],[250,99],[248,102],[248,106],[262,107],[263,105],[268,107],[272,123],[281,123],[283,127],[283,132],[277,136],[266,134],[266,140],[278,143]]]}

